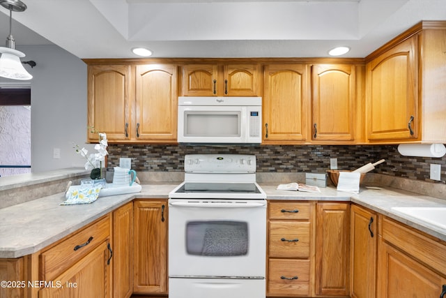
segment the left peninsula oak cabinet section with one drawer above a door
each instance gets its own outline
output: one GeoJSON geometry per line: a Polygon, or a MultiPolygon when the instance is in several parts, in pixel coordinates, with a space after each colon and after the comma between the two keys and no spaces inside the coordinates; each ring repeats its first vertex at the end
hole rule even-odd
{"type": "Polygon", "coordinates": [[[112,297],[110,214],[39,256],[38,297],[112,297]]]}

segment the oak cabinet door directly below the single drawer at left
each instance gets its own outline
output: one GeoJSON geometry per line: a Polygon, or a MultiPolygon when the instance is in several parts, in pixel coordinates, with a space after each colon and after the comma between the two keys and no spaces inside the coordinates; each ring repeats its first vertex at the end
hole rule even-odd
{"type": "Polygon", "coordinates": [[[40,298],[112,297],[109,241],[105,241],[39,291],[40,298]]]}

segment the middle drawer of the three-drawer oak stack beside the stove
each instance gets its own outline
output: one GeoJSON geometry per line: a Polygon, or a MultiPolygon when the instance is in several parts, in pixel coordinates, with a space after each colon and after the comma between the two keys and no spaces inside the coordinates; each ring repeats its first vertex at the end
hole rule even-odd
{"type": "Polygon", "coordinates": [[[270,221],[269,255],[309,258],[309,222],[270,221]]]}

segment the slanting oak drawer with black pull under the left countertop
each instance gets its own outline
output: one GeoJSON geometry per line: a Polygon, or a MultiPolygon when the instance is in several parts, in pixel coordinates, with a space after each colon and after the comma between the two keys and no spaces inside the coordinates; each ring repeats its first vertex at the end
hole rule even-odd
{"type": "Polygon", "coordinates": [[[110,234],[109,216],[79,230],[40,254],[40,279],[50,281],[103,243],[110,234]]]}

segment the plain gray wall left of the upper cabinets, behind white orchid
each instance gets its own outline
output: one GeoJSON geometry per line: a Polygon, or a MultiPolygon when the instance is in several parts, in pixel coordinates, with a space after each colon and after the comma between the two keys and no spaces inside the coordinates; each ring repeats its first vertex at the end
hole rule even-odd
{"type": "MultiPolygon", "coordinates": [[[[22,61],[36,61],[26,70],[31,82],[31,170],[42,172],[84,166],[72,142],[86,141],[86,64],[56,45],[17,47],[26,54],[22,61]],[[59,148],[61,158],[53,158],[59,148]]],[[[0,78],[0,82],[20,82],[0,78]]],[[[93,150],[92,145],[86,146],[93,150]]]]}

